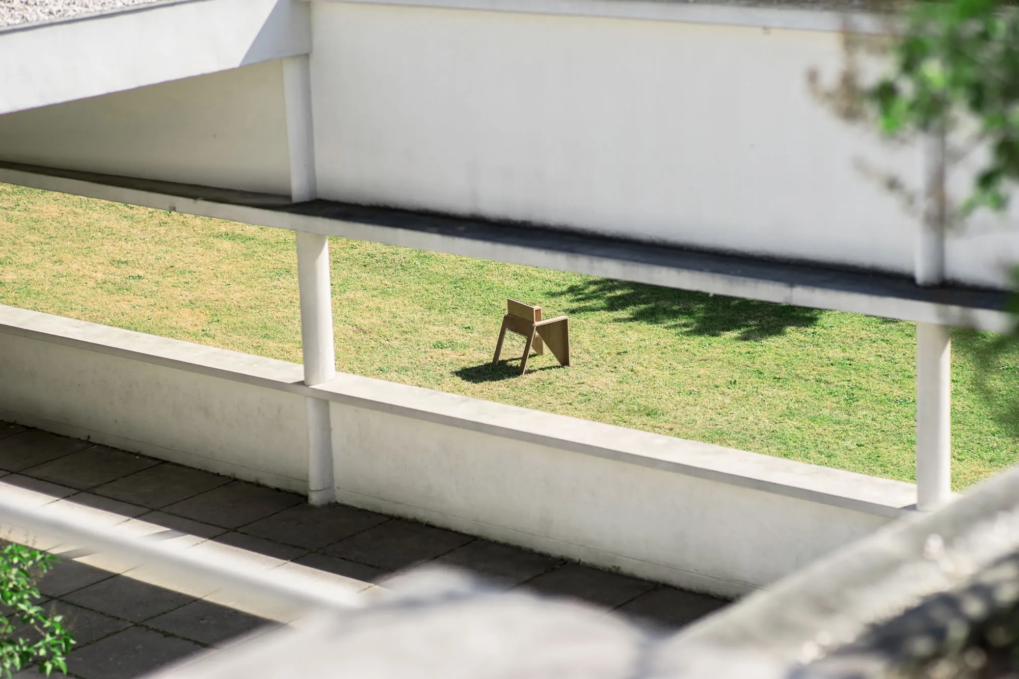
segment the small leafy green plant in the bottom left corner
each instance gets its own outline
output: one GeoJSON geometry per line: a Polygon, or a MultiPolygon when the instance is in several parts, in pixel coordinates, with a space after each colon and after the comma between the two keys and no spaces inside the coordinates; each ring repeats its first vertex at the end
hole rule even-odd
{"type": "Polygon", "coordinates": [[[47,615],[36,603],[36,582],[55,562],[56,557],[20,544],[0,550],[0,670],[7,679],[32,665],[47,677],[54,670],[67,671],[74,639],[61,616],[47,615]]]}

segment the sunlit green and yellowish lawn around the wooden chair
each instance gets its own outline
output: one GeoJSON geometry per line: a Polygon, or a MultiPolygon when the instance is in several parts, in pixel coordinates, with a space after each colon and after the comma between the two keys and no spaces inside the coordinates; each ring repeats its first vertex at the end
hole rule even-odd
{"type": "MultiPolygon", "coordinates": [[[[339,370],[913,478],[911,323],[331,246],[339,370]],[[506,297],[570,315],[572,367],[488,365],[506,297]]],[[[0,304],[301,360],[289,231],[0,185],[0,304]]],[[[978,369],[995,341],[954,335],[957,488],[1016,458],[1019,351],[978,369]]]]}

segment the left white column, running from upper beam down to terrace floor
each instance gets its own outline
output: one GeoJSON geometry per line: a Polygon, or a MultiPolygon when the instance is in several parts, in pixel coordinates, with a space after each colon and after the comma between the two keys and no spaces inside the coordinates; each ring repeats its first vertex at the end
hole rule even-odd
{"type": "MultiPolygon", "coordinates": [[[[317,195],[315,135],[307,56],[283,60],[283,99],[290,152],[290,198],[296,203],[314,200],[317,195]]],[[[329,242],[318,233],[298,231],[297,237],[305,384],[321,384],[332,379],[336,373],[329,242]]],[[[325,505],[335,501],[329,402],[307,397],[305,410],[308,423],[308,502],[325,505]]]]}

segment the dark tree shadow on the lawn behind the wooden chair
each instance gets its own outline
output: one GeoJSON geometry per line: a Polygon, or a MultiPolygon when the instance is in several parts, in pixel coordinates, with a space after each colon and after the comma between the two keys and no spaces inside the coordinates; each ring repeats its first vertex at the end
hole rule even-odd
{"type": "Polygon", "coordinates": [[[675,327],[686,334],[718,336],[739,332],[750,342],[785,334],[790,327],[809,327],[821,316],[817,309],[741,300],[672,288],[598,278],[551,293],[569,306],[567,313],[623,312],[616,322],[639,321],[675,327]]]}

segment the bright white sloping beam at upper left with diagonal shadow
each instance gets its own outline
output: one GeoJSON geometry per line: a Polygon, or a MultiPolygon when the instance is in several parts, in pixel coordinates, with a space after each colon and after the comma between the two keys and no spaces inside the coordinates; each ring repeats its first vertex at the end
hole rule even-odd
{"type": "Polygon", "coordinates": [[[307,54],[293,0],[182,0],[0,31],[0,114],[307,54]]]}

